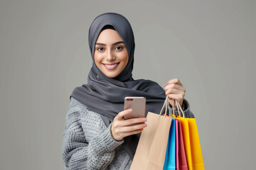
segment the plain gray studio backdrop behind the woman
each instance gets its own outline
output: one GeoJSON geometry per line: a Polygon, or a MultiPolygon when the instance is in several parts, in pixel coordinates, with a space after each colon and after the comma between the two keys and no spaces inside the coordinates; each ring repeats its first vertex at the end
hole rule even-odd
{"type": "Polygon", "coordinates": [[[69,96],[87,83],[87,35],[117,12],[134,79],[178,78],[206,169],[255,169],[255,1],[0,1],[0,169],[64,169],[69,96]]]}

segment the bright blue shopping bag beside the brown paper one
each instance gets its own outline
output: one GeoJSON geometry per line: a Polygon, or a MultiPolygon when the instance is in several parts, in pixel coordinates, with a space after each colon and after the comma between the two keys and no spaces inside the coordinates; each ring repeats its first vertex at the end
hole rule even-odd
{"type": "Polygon", "coordinates": [[[176,169],[176,121],[171,120],[171,128],[169,131],[169,139],[166,148],[166,157],[164,160],[164,170],[176,169]]]}

